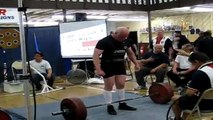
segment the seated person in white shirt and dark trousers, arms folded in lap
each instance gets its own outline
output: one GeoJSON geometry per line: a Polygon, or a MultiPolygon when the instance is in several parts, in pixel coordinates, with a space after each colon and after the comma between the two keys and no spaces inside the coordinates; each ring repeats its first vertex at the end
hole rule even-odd
{"type": "MultiPolygon", "coordinates": [[[[191,53],[193,46],[190,43],[185,44],[182,46],[182,50],[191,53]]],[[[188,58],[188,56],[177,55],[172,69],[167,73],[167,76],[176,84],[176,87],[184,87],[191,80],[194,69],[188,58]]]]}

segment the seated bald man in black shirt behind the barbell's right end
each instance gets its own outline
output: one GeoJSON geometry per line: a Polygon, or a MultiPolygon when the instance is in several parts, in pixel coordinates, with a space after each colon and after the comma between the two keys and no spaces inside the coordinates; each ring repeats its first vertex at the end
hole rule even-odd
{"type": "Polygon", "coordinates": [[[162,45],[156,44],[154,51],[145,53],[142,60],[139,60],[141,69],[135,72],[135,77],[139,85],[137,89],[146,89],[144,77],[149,74],[155,74],[156,82],[163,82],[169,65],[169,57],[162,52],[162,49],[162,45]]]}

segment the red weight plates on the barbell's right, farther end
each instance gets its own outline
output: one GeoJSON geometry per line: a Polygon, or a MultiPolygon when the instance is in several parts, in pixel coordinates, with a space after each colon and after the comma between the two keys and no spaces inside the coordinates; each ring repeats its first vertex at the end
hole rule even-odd
{"type": "Polygon", "coordinates": [[[173,96],[173,90],[168,84],[156,83],[150,86],[149,95],[154,103],[166,104],[173,96]]]}

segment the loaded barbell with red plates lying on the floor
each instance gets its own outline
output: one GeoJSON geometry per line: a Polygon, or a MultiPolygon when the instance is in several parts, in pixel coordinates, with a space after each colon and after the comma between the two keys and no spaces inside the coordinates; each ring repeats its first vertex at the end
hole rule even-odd
{"type": "MultiPolygon", "coordinates": [[[[155,83],[150,86],[149,95],[114,101],[112,102],[112,104],[136,100],[143,97],[150,97],[151,100],[157,104],[166,104],[171,100],[173,95],[174,91],[170,85],[164,83],[155,83]]],[[[65,98],[61,101],[61,110],[57,112],[52,112],[52,115],[63,115],[65,120],[86,120],[87,109],[105,105],[107,104],[103,103],[86,107],[80,98],[65,98]]]]}

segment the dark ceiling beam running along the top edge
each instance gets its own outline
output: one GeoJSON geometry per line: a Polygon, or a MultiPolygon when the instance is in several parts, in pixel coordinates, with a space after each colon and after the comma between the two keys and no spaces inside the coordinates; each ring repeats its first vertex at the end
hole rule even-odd
{"type": "MultiPolygon", "coordinates": [[[[192,6],[198,4],[213,3],[213,0],[174,0],[162,3],[159,0],[125,0],[126,3],[99,3],[92,0],[24,0],[24,6],[32,9],[96,9],[96,10],[131,10],[131,11],[154,11],[176,7],[192,6]],[[89,1],[89,2],[88,2],[89,1]],[[139,2],[142,2],[139,4],[139,2]],[[154,3],[155,2],[155,3],[154,3]]],[[[123,0],[121,1],[123,2],[123,0]]],[[[0,7],[17,7],[18,0],[0,0],[0,7]]]]}

